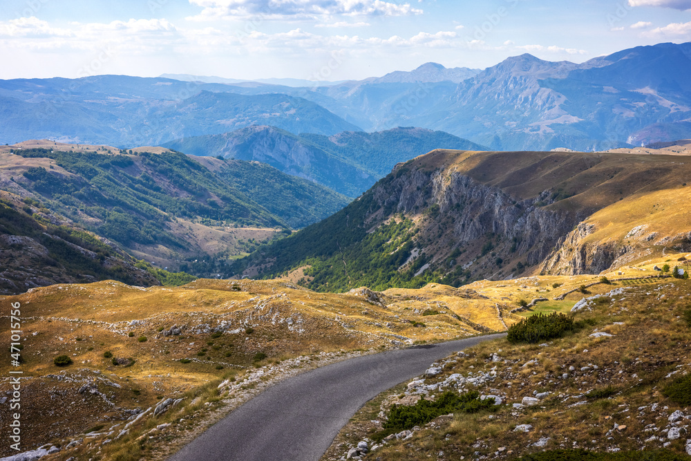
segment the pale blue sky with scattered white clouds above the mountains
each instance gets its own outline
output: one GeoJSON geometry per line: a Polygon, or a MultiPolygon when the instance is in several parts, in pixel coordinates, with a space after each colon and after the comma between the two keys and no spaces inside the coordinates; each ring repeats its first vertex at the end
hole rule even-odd
{"type": "Polygon", "coordinates": [[[691,41],[691,0],[3,0],[0,79],[363,79],[691,41]]]}

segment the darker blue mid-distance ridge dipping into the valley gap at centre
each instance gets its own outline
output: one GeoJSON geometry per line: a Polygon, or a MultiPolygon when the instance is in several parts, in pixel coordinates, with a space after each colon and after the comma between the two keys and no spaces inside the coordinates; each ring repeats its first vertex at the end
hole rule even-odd
{"type": "Polygon", "coordinates": [[[381,133],[345,131],[326,136],[250,126],[162,145],[195,156],[256,160],[351,197],[366,191],[398,162],[432,149],[486,150],[442,131],[401,127],[381,133]]]}

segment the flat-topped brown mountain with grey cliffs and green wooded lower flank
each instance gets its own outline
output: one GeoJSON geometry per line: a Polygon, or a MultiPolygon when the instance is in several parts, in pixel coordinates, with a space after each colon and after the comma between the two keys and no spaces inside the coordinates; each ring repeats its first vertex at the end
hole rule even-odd
{"type": "MultiPolygon", "coordinates": [[[[629,196],[635,203],[636,194],[683,189],[689,177],[691,162],[679,156],[433,151],[234,270],[270,277],[303,267],[303,283],[325,291],[505,279],[539,270],[596,211],[629,196]]],[[[679,223],[676,234],[684,228],[679,223]]]]}

